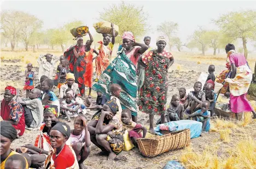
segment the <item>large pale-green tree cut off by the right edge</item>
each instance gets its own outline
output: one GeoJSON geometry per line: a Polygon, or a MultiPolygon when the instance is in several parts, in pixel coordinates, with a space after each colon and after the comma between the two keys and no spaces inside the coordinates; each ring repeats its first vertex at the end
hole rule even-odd
{"type": "Polygon", "coordinates": [[[242,12],[231,12],[224,14],[214,22],[229,37],[242,39],[244,55],[247,58],[247,41],[255,38],[256,32],[256,11],[247,10],[242,12]]]}

